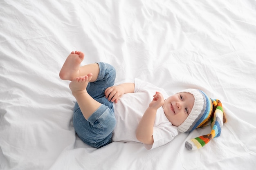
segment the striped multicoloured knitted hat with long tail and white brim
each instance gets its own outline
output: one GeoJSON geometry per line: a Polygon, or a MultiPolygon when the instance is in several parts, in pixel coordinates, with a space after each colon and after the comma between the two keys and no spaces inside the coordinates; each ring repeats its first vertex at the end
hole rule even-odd
{"type": "Polygon", "coordinates": [[[211,120],[212,130],[209,134],[186,141],[185,146],[187,149],[196,150],[202,148],[212,138],[220,136],[226,117],[220,100],[211,99],[198,89],[190,88],[179,93],[182,92],[191,93],[195,98],[195,102],[189,116],[178,126],[180,132],[191,132],[195,128],[207,126],[211,120]]]}

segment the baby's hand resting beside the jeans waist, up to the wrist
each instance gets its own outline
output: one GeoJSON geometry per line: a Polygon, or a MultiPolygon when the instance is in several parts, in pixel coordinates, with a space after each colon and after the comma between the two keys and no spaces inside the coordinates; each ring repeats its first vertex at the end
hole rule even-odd
{"type": "Polygon", "coordinates": [[[122,86],[111,86],[106,88],[105,96],[108,98],[108,101],[115,102],[122,97],[124,94],[124,88],[122,86]]]}

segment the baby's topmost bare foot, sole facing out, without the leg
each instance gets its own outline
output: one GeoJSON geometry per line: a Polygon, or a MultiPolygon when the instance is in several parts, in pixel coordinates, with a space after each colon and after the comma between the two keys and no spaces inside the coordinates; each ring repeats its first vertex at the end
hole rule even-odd
{"type": "Polygon", "coordinates": [[[83,61],[84,53],[81,51],[72,51],[70,55],[67,56],[61,71],[60,78],[63,80],[73,80],[75,77],[79,76],[79,67],[83,61]]]}

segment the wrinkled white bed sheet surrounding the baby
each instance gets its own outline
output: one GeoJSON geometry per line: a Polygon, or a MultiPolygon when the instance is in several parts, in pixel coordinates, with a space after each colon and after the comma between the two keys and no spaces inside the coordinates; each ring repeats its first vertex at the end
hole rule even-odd
{"type": "Polygon", "coordinates": [[[1,0],[1,170],[252,170],[256,167],[255,0],[1,0]],[[95,149],[76,137],[75,99],[58,77],[67,55],[108,62],[170,95],[199,88],[222,101],[221,136],[200,150],[182,133],[154,150],[95,149]]]}

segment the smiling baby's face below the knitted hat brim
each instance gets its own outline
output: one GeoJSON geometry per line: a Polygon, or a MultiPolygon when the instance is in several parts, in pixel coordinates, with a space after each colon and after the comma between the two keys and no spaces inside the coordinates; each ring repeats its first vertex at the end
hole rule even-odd
{"type": "Polygon", "coordinates": [[[164,114],[174,126],[180,126],[189,116],[195,98],[190,93],[177,93],[164,101],[164,114]]]}

